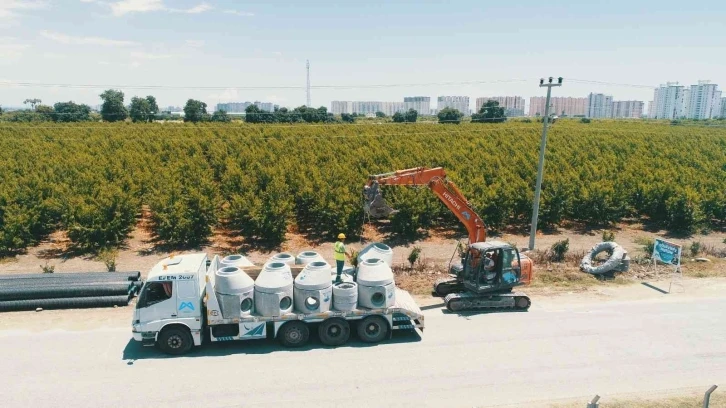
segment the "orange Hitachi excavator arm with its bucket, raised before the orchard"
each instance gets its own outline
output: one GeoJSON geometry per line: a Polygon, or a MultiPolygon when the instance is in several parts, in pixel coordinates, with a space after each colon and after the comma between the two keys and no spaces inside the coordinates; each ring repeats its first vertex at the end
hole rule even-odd
{"type": "Polygon", "coordinates": [[[379,186],[427,186],[464,224],[469,233],[470,244],[486,240],[484,221],[459,188],[446,178],[446,171],[443,168],[416,167],[369,176],[364,189],[366,199],[364,207],[369,215],[376,218],[388,216],[393,212],[383,200],[379,186]]]}

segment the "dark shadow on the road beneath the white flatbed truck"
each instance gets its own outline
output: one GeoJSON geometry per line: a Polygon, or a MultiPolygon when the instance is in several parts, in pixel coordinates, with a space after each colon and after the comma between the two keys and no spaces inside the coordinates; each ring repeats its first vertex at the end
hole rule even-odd
{"type": "MultiPolygon", "coordinates": [[[[390,340],[384,340],[378,344],[363,343],[351,334],[351,340],[340,348],[368,348],[385,347],[391,344],[414,343],[421,341],[421,336],[414,330],[399,330],[393,332],[390,340]]],[[[122,360],[127,365],[133,365],[136,360],[158,360],[180,357],[220,357],[234,354],[273,354],[273,353],[295,353],[313,349],[334,349],[338,347],[325,346],[314,330],[310,333],[310,342],[300,348],[285,348],[273,339],[248,340],[248,341],[227,341],[212,343],[205,340],[201,347],[194,347],[192,351],[184,356],[170,356],[164,354],[156,347],[144,347],[141,343],[129,339],[123,350],[122,360]]]]}

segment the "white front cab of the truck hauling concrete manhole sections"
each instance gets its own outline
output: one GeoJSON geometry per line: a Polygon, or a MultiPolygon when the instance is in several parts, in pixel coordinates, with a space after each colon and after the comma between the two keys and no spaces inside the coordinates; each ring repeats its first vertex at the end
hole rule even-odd
{"type": "Polygon", "coordinates": [[[206,254],[172,255],[149,272],[132,322],[134,340],[182,354],[202,344],[206,254]]]}

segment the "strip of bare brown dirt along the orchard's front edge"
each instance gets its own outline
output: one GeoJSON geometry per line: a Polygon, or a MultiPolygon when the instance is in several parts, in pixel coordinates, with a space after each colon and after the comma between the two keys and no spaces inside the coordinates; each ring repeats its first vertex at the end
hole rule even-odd
{"type": "MultiPolygon", "coordinates": [[[[125,248],[119,250],[117,258],[117,269],[119,271],[140,271],[145,275],[151,267],[159,260],[167,257],[170,252],[160,250],[154,246],[151,235],[142,220],[126,242],[125,248]]],[[[631,255],[643,255],[642,246],[638,244],[643,238],[666,238],[669,241],[686,246],[693,241],[699,241],[703,246],[710,248],[726,249],[723,243],[726,233],[713,232],[708,235],[693,235],[686,238],[670,237],[665,231],[646,231],[641,225],[621,225],[612,229],[615,232],[615,241],[622,245],[631,255]]],[[[547,233],[538,233],[536,248],[547,249],[556,241],[566,238],[570,240],[570,252],[580,253],[590,249],[593,245],[602,240],[601,230],[582,231],[578,229],[559,229],[547,233]]],[[[465,235],[456,235],[450,231],[432,231],[425,239],[413,242],[401,243],[400,240],[381,234],[372,226],[366,226],[361,240],[348,242],[348,248],[360,249],[370,242],[385,242],[393,248],[394,263],[408,265],[406,258],[411,248],[416,245],[421,248],[421,262],[433,266],[433,271],[444,271],[456,251],[457,239],[465,240],[465,235]]],[[[525,234],[505,233],[498,236],[490,236],[489,240],[496,239],[515,244],[518,248],[528,245],[529,236],[525,234]]],[[[91,272],[105,271],[103,262],[93,255],[74,255],[68,252],[68,240],[64,233],[53,234],[48,241],[28,249],[27,253],[17,255],[13,258],[0,259],[0,274],[13,273],[38,273],[41,266],[49,265],[55,268],[56,272],[91,272]]],[[[230,238],[225,231],[216,231],[211,243],[202,248],[192,251],[178,251],[175,253],[204,251],[208,254],[228,255],[239,252],[240,241],[230,238]]],[[[298,253],[302,250],[313,249],[318,251],[324,258],[333,259],[333,242],[326,242],[319,245],[306,240],[303,235],[288,233],[287,241],[278,248],[279,251],[298,253]]],[[[246,255],[254,262],[263,263],[277,251],[253,250],[246,255]]],[[[685,257],[684,257],[685,259],[685,257]]],[[[432,268],[429,268],[432,269],[432,268]]]]}

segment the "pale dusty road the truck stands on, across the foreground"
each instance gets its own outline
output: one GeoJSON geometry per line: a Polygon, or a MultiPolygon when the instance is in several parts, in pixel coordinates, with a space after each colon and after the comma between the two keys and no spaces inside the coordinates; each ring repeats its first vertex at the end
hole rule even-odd
{"type": "Polygon", "coordinates": [[[209,345],[170,358],[129,329],[0,332],[5,407],[471,407],[726,385],[726,298],[663,296],[529,313],[426,311],[375,346],[209,345]]]}

